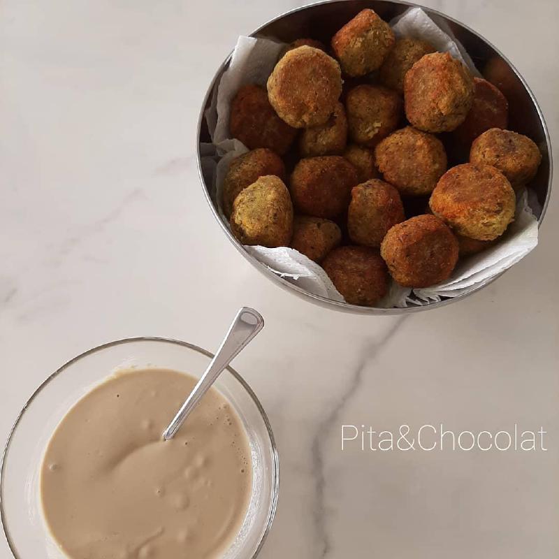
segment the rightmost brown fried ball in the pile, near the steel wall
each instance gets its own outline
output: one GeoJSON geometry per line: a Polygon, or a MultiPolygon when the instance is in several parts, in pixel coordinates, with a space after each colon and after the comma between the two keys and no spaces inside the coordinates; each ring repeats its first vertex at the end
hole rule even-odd
{"type": "Polygon", "coordinates": [[[474,140],[470,162],[493,165],[513,187],[520,187],[535,177],[542,154],[528,136],[492,128],[474,140]]]}

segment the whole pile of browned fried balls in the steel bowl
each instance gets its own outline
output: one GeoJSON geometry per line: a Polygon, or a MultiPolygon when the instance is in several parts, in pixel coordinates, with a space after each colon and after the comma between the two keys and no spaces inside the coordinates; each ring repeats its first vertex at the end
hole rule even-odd
{"type": "Polygon", "coordinates": [[[243,245],[292,247],[347,303],[374,306],[390,276],[443,282],[513,221],[542,155],[507,123],[495,85],[365,9],[330,48],[299,39],[266,88],[238,91],[231,136],[250,151],[228,168],[222,209],[243,245]]]}

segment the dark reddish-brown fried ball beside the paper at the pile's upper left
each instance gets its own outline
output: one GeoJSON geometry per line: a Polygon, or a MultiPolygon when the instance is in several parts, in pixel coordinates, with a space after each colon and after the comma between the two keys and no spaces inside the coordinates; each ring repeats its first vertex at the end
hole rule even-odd
{"type": "Polygon", "coordinates": [[[268,147],[279,155],[289,150],[296,129],[280,119],[268,101],[266,89],[258,85],[241,87],[231,103],[229,119],[231,136],[249,150],[268,147]]]}

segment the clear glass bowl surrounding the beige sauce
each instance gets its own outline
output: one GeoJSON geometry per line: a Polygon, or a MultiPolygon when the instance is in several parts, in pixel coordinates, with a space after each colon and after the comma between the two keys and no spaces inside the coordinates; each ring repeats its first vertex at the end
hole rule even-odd
{"type": "MultiPolygon", "coordinates": [[[[65,558],[41,512],[39,470],[46,445],[68,410],[115,370],[168,368],[200,377],[212,354],[177,340],[138,337],[90,349],[39,386],[17,418],[0,469],[0,513],[15,559],[65,558]]],[[[256,557],[270,530],[279,488],[279,460],[270,423],[256,395],[228,367],[214,385],[235,408],[252,453],[252,495],[245,521],[224,559],[256,557]]]]}

